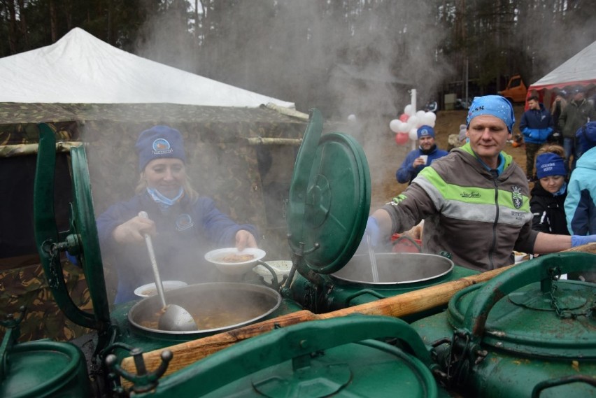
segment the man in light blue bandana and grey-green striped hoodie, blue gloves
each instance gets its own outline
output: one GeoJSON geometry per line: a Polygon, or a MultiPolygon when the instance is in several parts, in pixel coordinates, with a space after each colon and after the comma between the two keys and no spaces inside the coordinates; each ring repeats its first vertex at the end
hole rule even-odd
{"type": "Polygon", "coordinates": [[[455,264],[478,271],[513,264],[513,250],[553,253],[596,241],[532,229],[525,173],[503,152],[515,123],[509,101],[476,97],[466,122],[469,142],[432,162],[374,211],[364,232],[369,239],[362,241],[384,245],[425,220],[423,253],[450,253],[455,264]]]}

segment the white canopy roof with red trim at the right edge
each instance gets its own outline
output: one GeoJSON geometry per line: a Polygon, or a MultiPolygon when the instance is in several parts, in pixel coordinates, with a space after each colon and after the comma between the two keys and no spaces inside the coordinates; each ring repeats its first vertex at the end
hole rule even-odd
{"type": "Polygon", "coordinates": [[[567,59],[555,70],[548,73],[536,83],[530,85],[527,95],[538,93],[542,99],[545,91],[553,89],[565,89],[581,85],[590,90],[596,85],[596,41],[567,59]]]}

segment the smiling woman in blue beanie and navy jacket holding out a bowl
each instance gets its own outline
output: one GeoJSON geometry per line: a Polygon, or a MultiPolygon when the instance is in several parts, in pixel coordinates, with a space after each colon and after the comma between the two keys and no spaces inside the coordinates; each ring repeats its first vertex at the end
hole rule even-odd
{"type": "Polygon", "coordinates": [[[186,175],[183,136],[169,126],[139,134],[135,196],[110,206],[97,218],[101,256],[118,274],[115,304],[135,297],[136,287],[155,282],[144,236],[153,236],[162,280],[188,284],[218,280],[217,270],[200,261],[208,250],[256,248],[253,225],[236,224],[215,202],[199,197],[186,175]],[[141,211],[148,218],[139,216],[141,211]]]}

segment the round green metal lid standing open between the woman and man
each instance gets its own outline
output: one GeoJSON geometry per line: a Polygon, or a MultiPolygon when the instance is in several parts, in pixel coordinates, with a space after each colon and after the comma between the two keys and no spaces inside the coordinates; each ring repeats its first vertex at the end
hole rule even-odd
{"type": "Polygon", "coordinates": [[[322,115],[311,118],[295,162],[288,233],[293,253],[318,273],[341,269],[355,253],[370,210],[369,166],[348,134],[322,134],[322,115]]]}

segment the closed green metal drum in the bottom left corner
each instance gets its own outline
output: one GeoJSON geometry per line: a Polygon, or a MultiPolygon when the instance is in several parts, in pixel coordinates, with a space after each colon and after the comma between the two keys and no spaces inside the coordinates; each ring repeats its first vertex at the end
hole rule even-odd
{"type": "Polygon", "coordinates": [[[32,341],[3,357],[0,397],[91,397],[83,353],[70,343],[32,341]]]}

